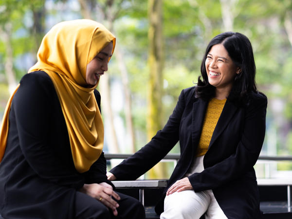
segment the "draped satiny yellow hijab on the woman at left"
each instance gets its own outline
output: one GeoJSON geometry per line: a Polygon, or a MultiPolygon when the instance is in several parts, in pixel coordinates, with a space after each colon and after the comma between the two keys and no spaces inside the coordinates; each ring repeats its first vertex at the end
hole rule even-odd
{"type": "MultiPolygon", "coordinates": [[[[99,158],[104,140],[103,122],[93,93],[98,83],[86,87],[86,67],[111,41],[113,52],[115,37],[93,20],[58,23],[43,38],[37,63],[28,71],[42,70],[51,77],[68,128],[74,165],[80,173],[89,170],[99,158]]],[[[7,103],[0,131],[0,161],[6,147],[13,95],[7,103]]]]}

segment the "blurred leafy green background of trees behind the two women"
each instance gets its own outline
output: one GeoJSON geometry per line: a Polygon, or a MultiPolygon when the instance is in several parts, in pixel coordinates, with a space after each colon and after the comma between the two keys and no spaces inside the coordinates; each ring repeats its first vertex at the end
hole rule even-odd
{"type": "MultiPolygon", "coordinates": [[[[63,20],[91,18],[115,34],[121,55],[118,59],[115,51],[107,76],[101,78],[106,81],[110,97],[102,99],[105,151],[131,153],[144,146],[150,138],[147,119],[151,119],[147,116],[152,71],[148,34],[149,19],[153,16],[148,10],[149,1],[0,0],[0,118],[10,92],[36,62],[37,49],[45,33],[63,20]],[[125,104],[127,92],[130,111],[125,104]],[[132,130],[127,123],[129,112],[132,130]]],[[[157,103],[162,109],[161,121],[156,122],[164,124],[180,91],[196,83],[210,39],[226,30],[240,32],[253,44],[258,90],[269,101],[261,155],[291,155],[292,1],[163,0],[160,12],[163,71],[158,74],[163,78],[163,89],[161,101],[157,103]]],[[[98,89],[105,91],[102,85],[98,89]]],[[[171,152],[178,153],[179,147],[175,146],[171,152]]],[[[264,166],[256,164],[257,174],[263,177],[266,176],[264,166]]],[[[292,169],[289,162],[271,166],[273,174],[281,171],[289,174],[292,169]]]]}

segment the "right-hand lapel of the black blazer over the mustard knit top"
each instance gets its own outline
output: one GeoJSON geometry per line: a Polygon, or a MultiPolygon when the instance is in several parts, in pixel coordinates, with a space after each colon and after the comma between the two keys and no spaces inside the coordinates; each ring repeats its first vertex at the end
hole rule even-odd
{"type": "Polygon", "coordinates": [[[237,107],[227,100],[225,103],[225,106],[222,110],[222,113],[219,117],[219,120],[217,122],[217,125],[214,129],[214,132],[213,132],[210,144],[209,144],[209,148],[213,145],[215,140],[218,138],[218,136],[222,133],[222,131],[228,125],[228,123],[230,122],[230,120],[233,117],[236,110],[237,110],[237,107]]]}

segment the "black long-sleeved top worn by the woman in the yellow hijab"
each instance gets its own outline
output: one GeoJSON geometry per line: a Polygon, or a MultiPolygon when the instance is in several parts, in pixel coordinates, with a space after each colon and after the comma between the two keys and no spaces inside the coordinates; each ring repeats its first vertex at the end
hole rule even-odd
{"type": "MultiPolygon", "coordinates": [[[[96,90],[94,94],[100,107],[100,94],[96,90]]],[[[101,182],[110,183],[103,153],[85,173],[74,167],[68,130],[49,75],[25,74],[11,104],[0,163],[2,217],[72,219],[76,190],[84,183],[101,182]]]]}

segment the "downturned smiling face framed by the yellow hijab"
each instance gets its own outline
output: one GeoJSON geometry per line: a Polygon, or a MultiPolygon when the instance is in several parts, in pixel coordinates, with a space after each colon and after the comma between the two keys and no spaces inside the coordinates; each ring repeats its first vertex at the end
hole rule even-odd
{"type": "Polygon", "coordinates": [[[99,81],[100,75],[108,71],[108,60],[112,55],[113,44],[110,42],[103,48],[86,67],[86,83],[88,87],[93,87],[99,81]]]}

